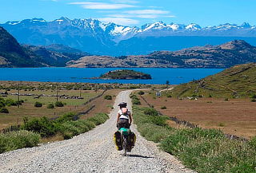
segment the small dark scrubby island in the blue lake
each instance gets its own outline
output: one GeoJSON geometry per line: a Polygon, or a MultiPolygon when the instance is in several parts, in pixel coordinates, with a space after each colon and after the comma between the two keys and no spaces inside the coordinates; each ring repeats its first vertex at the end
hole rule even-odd
{"type": "Polygon", "coordinates": [[[102,74],[98,79],[118,79],[118,80],[132,80],[132,79],[143,79],[149,80],[152,79],[150,74],[136,72],[129,69],[118,69],[113,70],[108,73],[102,74]]]}

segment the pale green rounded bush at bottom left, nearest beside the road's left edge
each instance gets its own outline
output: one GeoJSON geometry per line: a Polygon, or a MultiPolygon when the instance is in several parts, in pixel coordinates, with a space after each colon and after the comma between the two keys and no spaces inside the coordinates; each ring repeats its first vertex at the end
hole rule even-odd
{"type": "Polygon", "coordinates": [[[40,142],[40,136],[34,132],[18,131],[0,133],[0,153],[22,147],[34,147],[40,142]]]}

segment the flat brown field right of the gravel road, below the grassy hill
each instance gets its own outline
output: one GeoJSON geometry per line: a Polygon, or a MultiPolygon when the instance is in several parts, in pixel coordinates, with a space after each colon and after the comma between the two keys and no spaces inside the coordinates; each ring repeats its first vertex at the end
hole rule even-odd
{"type": "MultiPolygon", "coordinates": [[[[150,94],[144,97],[166,116],[176,116],[179,120],[190,121],[202,128],[217,128],[248,139],[256,136],[256,103],[250,102],[250,99],[178,100],[166,96],[154,99],[150,94]],[[166,106],[166,109],[161,109],[162,106],[166,106]]],[[[146,105],[142,99],[141,101],[142,105],[146,105]]]]}

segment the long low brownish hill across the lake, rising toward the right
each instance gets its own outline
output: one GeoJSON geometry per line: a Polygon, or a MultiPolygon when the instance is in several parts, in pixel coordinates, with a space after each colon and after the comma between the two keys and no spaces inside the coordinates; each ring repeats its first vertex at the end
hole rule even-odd
{"type": "Polygon", "coordinates": [[[158,51],[139,56],[86,56],[67,63],[69,67],[152,67],[152,68],[229,68],[256,62],[256,47],[235,40],[222,45],[192,47],[174,52],[158,51]]]}

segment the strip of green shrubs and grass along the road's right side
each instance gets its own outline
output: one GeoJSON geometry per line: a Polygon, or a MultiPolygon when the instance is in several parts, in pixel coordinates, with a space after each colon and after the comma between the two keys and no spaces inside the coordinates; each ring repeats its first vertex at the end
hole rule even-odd
{"type": "Polygon", "coordinates": [[[229,140],[215,129],[170,128],[165,116],[146,115],[144,112],[149,109],[133,107],[138,132],[177,156],[186,167],[206,173],[256,172],[256,137],[243,142],[229,140]]]}

